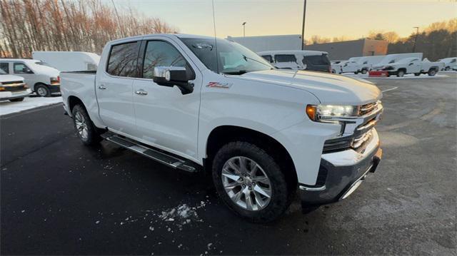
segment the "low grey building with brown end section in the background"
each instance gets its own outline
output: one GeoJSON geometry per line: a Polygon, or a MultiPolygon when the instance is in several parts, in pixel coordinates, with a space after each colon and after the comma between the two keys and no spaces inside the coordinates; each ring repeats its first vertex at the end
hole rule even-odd
{"type": "Polygon", "coordinates": [[[387,54],[388,42],[385,40],[358,39],[334,43],[315,43],[305,46],[305,50],[326,51],[328,58],[347,60],[357,56],[375,56],[387,54]]]}

